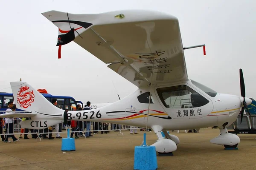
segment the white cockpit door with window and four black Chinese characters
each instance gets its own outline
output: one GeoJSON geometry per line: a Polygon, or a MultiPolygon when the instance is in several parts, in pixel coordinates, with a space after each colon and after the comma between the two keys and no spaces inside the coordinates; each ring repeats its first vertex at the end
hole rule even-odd
{"type": "Polygon", "coordinates": [[[212,100],[187,83],[154,89],[160,105],[173,119],[197,119],[209,115],[212,100]]]}

